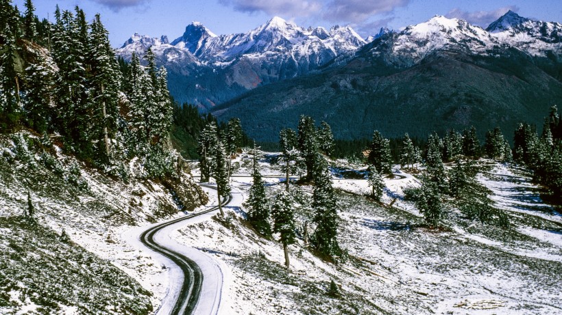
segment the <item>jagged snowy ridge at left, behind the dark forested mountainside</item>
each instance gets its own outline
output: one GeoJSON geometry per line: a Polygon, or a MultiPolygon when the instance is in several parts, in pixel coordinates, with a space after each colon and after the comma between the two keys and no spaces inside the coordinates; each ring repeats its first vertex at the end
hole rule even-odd
{"type": "Polygon", "coordinates": [[[351,27],[304,29],[274,17],[247,33],[221,36],[194,22],[171,43],[135,34],[117,54],[128,60],[151,47],[169,70],[172,95],[208,109],[259,85],[306,74],[365,43],[351,27]]]}

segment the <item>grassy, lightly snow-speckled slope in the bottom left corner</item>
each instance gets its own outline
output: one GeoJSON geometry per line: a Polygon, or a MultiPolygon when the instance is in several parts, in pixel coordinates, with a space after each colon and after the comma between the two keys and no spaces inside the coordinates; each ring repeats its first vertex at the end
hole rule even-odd
{"type": "Polygon", "coordinates": [[[0,313],[149,314],[151,295],[123,271],[45,225],[0,217],[0,313]]]}

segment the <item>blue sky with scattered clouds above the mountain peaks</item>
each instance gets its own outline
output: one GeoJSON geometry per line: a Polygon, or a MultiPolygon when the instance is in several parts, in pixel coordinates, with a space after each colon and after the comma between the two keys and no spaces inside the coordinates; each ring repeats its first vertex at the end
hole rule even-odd
{"type": "MultiPolygon", "coordinates": [[[[24,0],[13,3],[23,11],[24,0]]],[[[79,5],[88,18],[100,13],[115,47],[135,32],[151,37],[167,35],[173,40],[194,20],[217,35],[249,31],[280,16],[303,27],[351,25],[364,37],[377,33],[380,27],[401,29],[436,14],[464,18],[482,27],[507,10],[562,22],[560,0],[34,0],[36,14],[52,20],[57,3],[61,10],[79,5]]]]}

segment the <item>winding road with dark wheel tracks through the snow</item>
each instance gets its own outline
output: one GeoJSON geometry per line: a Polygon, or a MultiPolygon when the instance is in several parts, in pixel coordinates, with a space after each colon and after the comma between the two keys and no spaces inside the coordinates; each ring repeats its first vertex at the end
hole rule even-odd
{"type": "MultiPolygon", "coordinates": [[[[215,189],[215,187],[212,187],[210,185],[203,184],[201,186],[207,187],[209,189],[215,189]]],[[[222,204],[227,205],[231,200],[232,195],[223,200],[222,204]]],[[[195,308],[197,307],[197,303],[199,302],[199,297],[201,296],[203,273],[201,272],[201,268],[193,260],[178,253],[177,251],[174,251],[171,248],[157,243],[154,240],[154,236],[160,230],[167,228],[169,225],[192,219],[194,217],[198,217],[199,215],[210,213],[217,210],[218,208],[219,206],[213,206],[192,215],[185,215],[184,217],[180,217],[178,219],[166,221],[164,223],[151,226],[151,228],[145,230],[142,234],[140,234],[140,242],[143,243],[143,245],[171,260],[174,264],[180,267],[182,273],[184,274],[184,279],[182,281],[178,299],[175,301],[175,304],[173,305],[173,308],[169,313],[171,315],[193,314],[195,308]]]]}

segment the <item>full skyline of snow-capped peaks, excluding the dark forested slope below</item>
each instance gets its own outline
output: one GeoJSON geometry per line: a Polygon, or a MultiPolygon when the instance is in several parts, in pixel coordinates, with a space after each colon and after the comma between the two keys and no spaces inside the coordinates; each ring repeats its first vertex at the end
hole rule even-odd
{"type": "Polygon", "coordinates": [[[561,37],[560,23],[534,21],[511,11],[487,29],[435,16],[400,33],[381,29],[367,40],[350,27],[304,29],[276,17],[247,33],[221,36],[201,23],[191,23],[171,43],[165,36],[136,34],[117,53],[128,59],[133,51],[142,55],[151,46],[158,63],[169,70],[172,95],[180,102],[212,109],[261,85],[342,66],[367,42],[374,56],[384,55],[388,64],[408,68],[435,51],[494,55],[513,48],[533,58],[556,59],[561,37]],[[387,38],[383,42],[372,42],[383,36],[387,38]],[[391,46],[384,44],[389,38],[391,46]]]}

